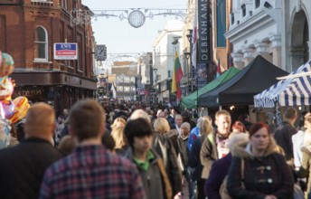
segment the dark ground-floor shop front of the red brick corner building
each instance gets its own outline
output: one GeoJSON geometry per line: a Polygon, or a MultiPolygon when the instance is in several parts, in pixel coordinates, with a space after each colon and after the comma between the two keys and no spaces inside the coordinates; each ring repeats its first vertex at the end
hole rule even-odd
{"type": "Polygon", "coordinates": [[[11,78],[15,81],[13,99],[24,96],[31,103],[46,102],[57,115],[77,100],[96,98],[97,81],[67,72],[14,72],[11,78]]]}

